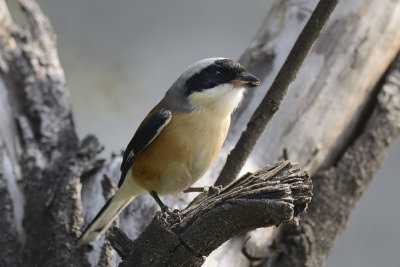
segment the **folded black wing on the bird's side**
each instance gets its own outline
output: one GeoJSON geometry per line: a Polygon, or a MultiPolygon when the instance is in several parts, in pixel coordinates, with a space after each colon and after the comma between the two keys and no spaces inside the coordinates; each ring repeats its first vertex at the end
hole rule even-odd
{"type": "Polygon", "coordinates": [[[118,187],[124,182],[126,173],[132,167],[136,156],[142,152],[156,137],[162,129],[171,121],[172,112],[167,109],[160,109],[149,115],[139,126],[132,140],[124,152],[124,159],[121,164],[121,177],[118,187]]]}

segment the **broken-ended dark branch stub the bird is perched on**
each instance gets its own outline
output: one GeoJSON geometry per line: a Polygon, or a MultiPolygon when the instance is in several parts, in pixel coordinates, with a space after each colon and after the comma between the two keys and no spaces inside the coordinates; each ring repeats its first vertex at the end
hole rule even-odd
{"type": "Polygon", "coordinates": [[[293,220],[306,209],[311,190],[305,171],[279,162],[244,175],[217,195],[200,194],[180,220],[158,212],[135,241],[116,228],[108,238],[123,260],[120,266],[200,266],[232,236],[293,220]]]}

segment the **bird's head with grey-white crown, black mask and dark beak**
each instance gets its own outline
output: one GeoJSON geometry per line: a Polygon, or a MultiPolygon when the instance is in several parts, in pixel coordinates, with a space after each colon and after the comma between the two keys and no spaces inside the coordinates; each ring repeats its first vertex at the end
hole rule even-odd
{"type": "Polygon", "coordinates": [[[233,60],[206,58],[189,66],[166,97],[177,109],[183,107],[228,115],[239,105],[245,88],[259,84],[255,76],[233,60]]]}

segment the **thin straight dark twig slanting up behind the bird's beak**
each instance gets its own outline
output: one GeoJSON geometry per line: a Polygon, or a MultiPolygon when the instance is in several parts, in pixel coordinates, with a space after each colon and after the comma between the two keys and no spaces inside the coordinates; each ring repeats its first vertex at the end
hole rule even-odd
{"type": "Polygon", "coordinates": [[[225,186],[239,174],[268,122],[278,110],[290,84],[296,78],[300,67],[338,2],[338,0],[321,0],[318,3],[270,89],[253,113],[246,130],[240,136],[235,148],[228,155],[215,185],[225,186]]]}

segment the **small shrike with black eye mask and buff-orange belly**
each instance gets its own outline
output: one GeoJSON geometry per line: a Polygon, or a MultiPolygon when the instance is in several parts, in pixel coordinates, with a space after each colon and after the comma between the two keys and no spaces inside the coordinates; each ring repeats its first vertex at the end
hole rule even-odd
{"type": "Polygon", "coordinates": [[[214,162],[245,89],[259,79],[228,58],[206,58],[190,65],[139,125],[123,154],[119,190],[77,240],[98,239],[137,196],[189,188],[214,162]]]}

